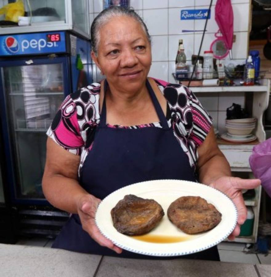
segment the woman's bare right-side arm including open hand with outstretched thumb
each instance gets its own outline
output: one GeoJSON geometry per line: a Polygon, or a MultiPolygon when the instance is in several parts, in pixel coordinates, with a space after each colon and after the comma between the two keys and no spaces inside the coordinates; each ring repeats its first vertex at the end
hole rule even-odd
{"type": "Polygon", "coordinates": [[[198,148],[199,181],[216,188],[229,196],[238,212],[237,226],[229,239],[234,239],[240,233],[240,225],[246,220],[247,210],[242,195],[242,189],[253,189],[261,184],[259,179],[241,179],[231,177],[228,161],[217,146],[213,128],[198,148]]]}

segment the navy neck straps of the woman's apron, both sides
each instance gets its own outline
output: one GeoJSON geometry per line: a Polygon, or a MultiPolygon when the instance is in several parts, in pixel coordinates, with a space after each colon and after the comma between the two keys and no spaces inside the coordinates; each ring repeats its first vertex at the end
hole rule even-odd
{"type": "MultiPolygon", "coordinates": [[[[152,103],[153,103],[153,106],[155,108],[155,111],[156,111],[156,114],[158,115],[158,118],[160,120],[160,124],[162,126],[162,128],[164,129],[168,129],[168,122],[167,122],[167,119],[164,115],[164,112],[161,108],[161,105],[160,103],[158,102],[158,99],[152,89],[152,86],[150,85],[148,79],[146,80],[146,86],[147,86],[147,89],[148,89],[148,92],[151,96],[151,99],[152,99],[152,103]]],[[[101,127],[105,127],[106,126],[106,102],[105,102],[105,93],[106,93],[106,90],[107,90],[107,87],[108,87],[108,82],[106,79],[104,79],[104,84],[103,84],[103,91],[104,91],[104,94],[103,94],[103,106],[102,106],[102,111],[101,111],[101,115],[100,115],[100,126],[101,127]]]]}

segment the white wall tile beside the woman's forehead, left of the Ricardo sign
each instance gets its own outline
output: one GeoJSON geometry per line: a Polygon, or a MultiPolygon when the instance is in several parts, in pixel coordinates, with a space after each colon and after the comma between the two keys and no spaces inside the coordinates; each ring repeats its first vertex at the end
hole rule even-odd
{"type": "Polygon", "coordinates": [[[168,34],[168,9],[143,10],[143,18],[150,35],[168,34]]]}

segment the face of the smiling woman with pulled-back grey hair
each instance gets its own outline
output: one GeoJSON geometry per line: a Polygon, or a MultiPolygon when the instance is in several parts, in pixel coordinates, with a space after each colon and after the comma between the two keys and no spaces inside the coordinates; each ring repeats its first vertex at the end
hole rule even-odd
{"type": "Polygon", "coordinates": [[[98,56],[92,58],[110,86],[136,91],[142,87],[152,62],[151,45],[140,23],[120,16],[99,30],[98,56]]]}

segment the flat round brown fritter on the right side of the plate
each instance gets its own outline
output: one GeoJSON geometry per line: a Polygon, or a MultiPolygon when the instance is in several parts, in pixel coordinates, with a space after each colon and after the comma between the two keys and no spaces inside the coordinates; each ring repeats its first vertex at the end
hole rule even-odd
{"type": "Polygon", "coordinates": [[[221,221],[216,207],[199,196],[183,196],[168,207],[169,220],[187,234],[197,234],[214,228],[221,221]]]}

